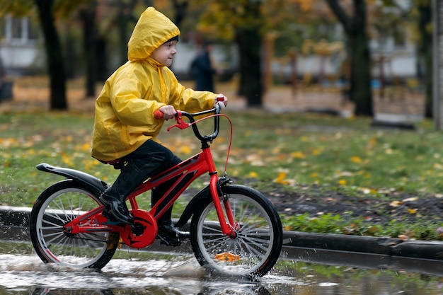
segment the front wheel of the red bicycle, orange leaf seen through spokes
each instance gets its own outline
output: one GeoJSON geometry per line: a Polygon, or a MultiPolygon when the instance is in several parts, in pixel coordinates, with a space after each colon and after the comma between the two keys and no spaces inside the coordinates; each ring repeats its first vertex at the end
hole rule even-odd
{"type": "Polygon", "coordinates": [[[229,198],[238,224],[237,236],[231,239],[222,233],[214,203],[207,202],[191,219],[190,243],[195,258],[212,272],[262,277],[280,257],[280,216],[269,199],[251,187],[228,185],[222,192],[229,198]]]}

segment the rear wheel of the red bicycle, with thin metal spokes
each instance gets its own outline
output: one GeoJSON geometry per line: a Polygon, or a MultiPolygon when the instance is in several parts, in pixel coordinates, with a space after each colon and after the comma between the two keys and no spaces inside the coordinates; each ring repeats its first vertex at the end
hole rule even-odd
{"type": "Polygon", "coordinates": [[[62,180],[42,192],[30,214],[30,239],[45,262],[100,270],[113,258],[117,232],[64,233],[63,226],[100,205],[98,196],[73,180],[62,180]]]}

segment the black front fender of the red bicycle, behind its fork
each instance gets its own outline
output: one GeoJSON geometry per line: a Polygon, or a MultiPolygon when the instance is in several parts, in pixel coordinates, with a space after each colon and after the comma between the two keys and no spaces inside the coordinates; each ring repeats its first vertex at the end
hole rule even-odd
{"type": "MultiPolygon", "coordinates": [[[[217,183],[219,195],[222,195],[223,187],[226,186],[228,183],[232,183],[229,178],[223,177],[219,179],[219,182],[217,183]]],[[[188,223],[189,219],[191,218],[192,214],[194,214],[197,208],[205,207],[210,202],[212,202],[211,190],[209,189],[209,185],[207,185],[206,187],[202,188],[200,192],[197,192],[197,195],[195,195],[195,197],[190,200],[188,205],[186,205],[185,210],[183,210],[180,219],[178,219],[174,226],[184,226],[188,223]]]]}

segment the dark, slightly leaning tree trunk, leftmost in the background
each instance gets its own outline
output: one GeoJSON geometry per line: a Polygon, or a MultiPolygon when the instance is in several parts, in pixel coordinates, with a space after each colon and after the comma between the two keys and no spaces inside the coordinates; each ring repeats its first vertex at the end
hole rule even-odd
{"type": "Polygon", "coordinates": [[[47,55],[47,71],[50,75],[50,109],[67,110],[66,76],[62,58],[62,47],[54,26],[52,13],[53,0],[35,0],[38,6],[38,16],[45,36],[47,55]]]}

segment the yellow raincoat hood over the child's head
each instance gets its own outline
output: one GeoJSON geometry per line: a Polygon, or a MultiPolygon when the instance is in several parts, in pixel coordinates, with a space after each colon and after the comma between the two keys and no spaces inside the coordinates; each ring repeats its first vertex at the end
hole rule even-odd
{"type": "Polygon", "coordinates": [[[140,16],[127,44],[127,58],[134,62],[147,59],[151,53],[172,37],[180,35],[178,27],[154,7],[140,16]]]}

